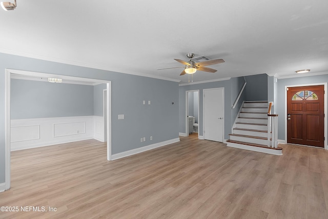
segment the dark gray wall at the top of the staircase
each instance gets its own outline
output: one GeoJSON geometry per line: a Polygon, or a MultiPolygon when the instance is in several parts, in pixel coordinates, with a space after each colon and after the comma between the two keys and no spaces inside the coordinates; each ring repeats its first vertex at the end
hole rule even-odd
{"type": "Polygon", "coordinates": [[[247,101],[268,101],[268,75],[245,76],[245,98],[247,101]]]}

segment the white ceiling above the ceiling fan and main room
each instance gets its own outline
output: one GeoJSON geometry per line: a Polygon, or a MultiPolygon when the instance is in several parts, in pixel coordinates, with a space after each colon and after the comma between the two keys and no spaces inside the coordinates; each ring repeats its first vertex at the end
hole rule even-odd
{"type": "MultiPolygon", "coordinates": [[[[13,2],[13,0],[10,0],[13,2]]],[[[0,10],[0,52],[188,82],[173,58],[226,63],[194,82],[328,73],[328,1],[17,0],[0,10]]]]}

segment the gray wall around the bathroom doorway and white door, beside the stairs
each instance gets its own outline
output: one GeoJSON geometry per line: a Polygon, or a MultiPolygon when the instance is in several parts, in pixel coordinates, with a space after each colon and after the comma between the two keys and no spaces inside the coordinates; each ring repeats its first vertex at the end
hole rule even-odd
{"type": "Polygon", "coordinates": [[[210,82],[203,84],[194,84],[179,87],[179,132],[186,133],[186,91],[199,90],[199,120],[198,131],[202,135],[203,119],[203,89],[224,88],[224,138],[229,139],[232,125],[238,114],[240,105],[243,101],[241,98],[238,102],[239,108],[232,109],[232,99],[235,101],[243,85],[243,78],[231,78],[227,81],[210,82]],[[238,91],[238,92],[237,92],[238,91]]]}

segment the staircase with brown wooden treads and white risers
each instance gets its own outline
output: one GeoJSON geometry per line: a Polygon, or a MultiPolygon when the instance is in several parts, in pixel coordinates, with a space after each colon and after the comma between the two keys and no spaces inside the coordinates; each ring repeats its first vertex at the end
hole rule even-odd
{"type": "Polygon", "coordinates": [[[228,147],[282,155],[282,148],[268,147],[267,101],[244,102],[232,132],[228,147]]]}

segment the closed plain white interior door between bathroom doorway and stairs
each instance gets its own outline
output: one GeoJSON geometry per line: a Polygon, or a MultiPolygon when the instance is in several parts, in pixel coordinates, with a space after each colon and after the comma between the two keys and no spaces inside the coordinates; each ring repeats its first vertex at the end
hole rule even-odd
{"type": "Polygon", "coordinates": [[[203,90],[203,136],[206,140],[223,142],[224,88],[203,90]]]}

